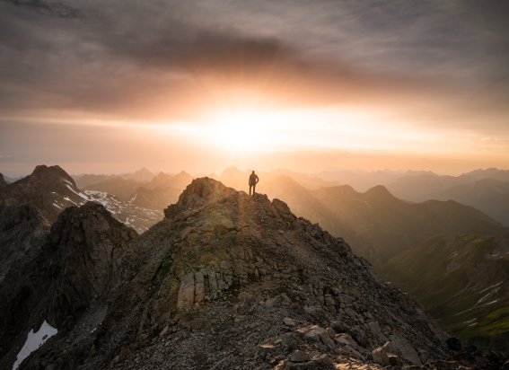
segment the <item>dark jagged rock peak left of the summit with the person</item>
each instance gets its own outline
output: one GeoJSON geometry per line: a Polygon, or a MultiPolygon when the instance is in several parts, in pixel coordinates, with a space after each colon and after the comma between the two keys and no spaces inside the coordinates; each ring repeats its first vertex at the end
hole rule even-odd
{"type": "MultiPolygon", "coordinates": [[[[33,208],[21,209],[37,223],[33,208]]],[[[21,227],[30,230],[30,225],[21,227]]],[[[136,239],[134,230],[99,204],[62,212],[51,231],[39,238],[42,245],[18,259],[0,284],[0,368],[12,366],[27,333],[41,322],[65,335],[91,304],[93,313],[103,316],[104,300],[127,278],[136,239]]]]}

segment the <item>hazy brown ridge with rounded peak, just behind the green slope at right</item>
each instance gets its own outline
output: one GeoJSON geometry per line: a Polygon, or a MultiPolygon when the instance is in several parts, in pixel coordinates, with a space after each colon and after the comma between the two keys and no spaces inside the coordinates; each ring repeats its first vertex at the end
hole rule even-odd
{"type": "MultiPolygon", "coordinates": [[[[314,192],[336,218],[373,245],[387,260],[417,242],[440,233],[498,233],[501,225],[473,207],[455,201],[408,203],[379,185],[357,193],[349,187],[314,192]]],[[[352,240],[355,245],[355,239],[352,240]]]]}

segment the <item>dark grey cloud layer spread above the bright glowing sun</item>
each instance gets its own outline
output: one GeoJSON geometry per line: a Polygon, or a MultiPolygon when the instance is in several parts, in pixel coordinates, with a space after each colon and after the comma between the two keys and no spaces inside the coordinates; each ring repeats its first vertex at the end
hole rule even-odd
{"type": "Polygon", "coordinates": [[[179,119],[245,99],[398,110],[423,125],[475,127],[465,123],[475,111],[503,129],[504,12],[441,1],[4,0],[0,110],[179,119]]]}

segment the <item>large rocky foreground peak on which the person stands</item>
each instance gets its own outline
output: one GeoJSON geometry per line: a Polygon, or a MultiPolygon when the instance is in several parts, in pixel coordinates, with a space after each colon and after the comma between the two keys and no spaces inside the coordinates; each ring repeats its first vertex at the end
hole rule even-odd
{"type": "MultiPolygon", "coordinates": [[[[69,323],[46,317],[57,335],[20,368],[444,369],[503,364],[500,354],[462,350],[408,295],[377,278],[347,242],[294,216],[281,200],[250,197],[202,178],[192,181],[164,213],[136,240],[117,226],[111,233],[110,223],[93,226],[110,235],[104,236],[106,242],[113,235],[126,241],[123,269],[111,269],[118,265],[108,253],[83,256],[97,262],[85,264],[90,266],[87,277],[102,283],[87,283],[84,291],[94,292],[85,296],[100,300],[101,310],[94,304],[80,306],[69,323]],[[111,276],[119,285],[104,289],[104,278],[111,276]]],[[[65,251],[68,243],[78,248],[91,240],[86,233],[59,232],[67,228],[57,225],[90,225],[83,220],[93,216],[73,218],[64,212],[61,217],[50,245],[65,251]]],[[[93,240],[101,244],[101,238],[93,240]]],[[[64,281],[82,276],[66,265],[58,271],[64,281]]],[[[21,344],[16,346],[10,353],[21,344]]]]}

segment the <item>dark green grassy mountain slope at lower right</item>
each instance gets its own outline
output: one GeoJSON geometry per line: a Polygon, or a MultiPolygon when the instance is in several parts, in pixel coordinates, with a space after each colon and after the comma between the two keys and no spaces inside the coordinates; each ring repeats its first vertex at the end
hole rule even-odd
{"type": "Polygon", "coordinates": [[[381,271],[446,330],[508,348],[509,232],[435,236],[389,260],[381,271]]]}

